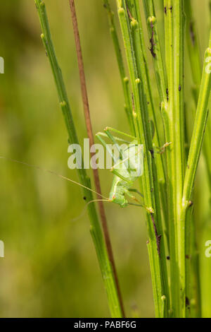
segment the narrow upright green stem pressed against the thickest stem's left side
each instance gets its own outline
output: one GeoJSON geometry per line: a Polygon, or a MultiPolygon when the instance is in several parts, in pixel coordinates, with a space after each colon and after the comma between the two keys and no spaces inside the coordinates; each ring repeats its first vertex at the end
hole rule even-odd
{"type": "Polygon", "coordinates": [[[168,194],[168,206],[169,206],[169,223],[170,223],[170,293],[171,293],[171,307],[172,315],[176,315],[178,306],[179,295],[177,292],[178,278],[178,267],[176,263],[177,254],[177,242],[176,242],[176,225],[174,223],[174,118],[173,118],[173,34],[172,34],[172,1],[165,0],[165,60],[167,68],[167,79],[168,79],[168,102],[162,102],[162,116],[165,124],[165,135],[169,142],[172,142],[170,148],[167,149],[167,194],[168,194]]]}

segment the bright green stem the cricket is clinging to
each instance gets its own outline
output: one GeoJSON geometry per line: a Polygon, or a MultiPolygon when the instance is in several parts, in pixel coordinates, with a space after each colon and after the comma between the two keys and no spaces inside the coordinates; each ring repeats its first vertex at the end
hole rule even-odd
{"type": "MultiPolygon", "coordinates": [[[[117,0],[117,10],[120,18],[120,26],[122,30],[122,37],[124,41],[124,48],[126,52],[127,64],[129,69],[129,76],[132,85],[132,93],[134,95],[134,119],[136,124],[136,137],[139,143],[143,143],[145,152],[144,172],[141,177],[141,184],[144,196],[144,203],[147,207],[147,225],[148,225],[148,253],[151,264],[151,275],[153,282],[153,294],[155,300],[155,315],[161,317],[165,314],[164,298],[162,285],[162,268],[160,266],[160,245],[158,244],[160,238],[155,233],[155,227],[158,226],[159,208],[155,208],[155,188],[153,183],[153,168],[152,168],[152,155],[151,155],[151,136],[150,126],[147,119],[147,109],[144,107],[143,91],[141,78],[139,78],[137,64],[136,64],[136,49],[134,49],[129,18],[127,14],[127,5],[124,0],[117,0]],[[157,214],[158,213],[158,214],[157,214]]],[[[133,29],[133,27],[132,27],[133,29]]],[[[157,196],[156,196],[157,197],[157,196]]],[[[157,197],[158,198],[158,197],[157,197]]],[[[157,204],[158,201],[157,201],[157,204]]],[[[158,205],[157,205],[158,206],[158,205]]]]}

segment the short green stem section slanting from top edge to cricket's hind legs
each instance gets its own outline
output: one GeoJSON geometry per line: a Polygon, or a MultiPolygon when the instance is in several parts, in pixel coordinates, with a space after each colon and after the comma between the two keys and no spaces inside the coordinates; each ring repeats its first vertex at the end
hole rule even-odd
{"type": "Polygon", "coordinates": [[[117,64],[119,67],[119,71],[120,71],[120,78],[122,81],[122,88],[123,88],[123,93],[124,93],[124,109],[125,112],[127,114],[127,120],[129,122],[129,128],[130,128],[130,132],[132,135],[135,135],[135,126],[134,126],[134,117],[132,114],[132,97],[130,95],[130,91],[129,91],[129,78],[127,78],[126,73],[125,73],[125,69],[124,69],[124,62],[122,59],[122,52],[121,52],[121,48],[120,48],[120,42],[119,42],[119,38],[117,35],[117,30],[115,27],[115,20],[114,20],[114,13],[110,8],[110,3],[108,0],[103,0],[103,4],[104,7],[106,8],[107,12],[108,12],[108,22],[110,25],[110,35],[112,37],[113,40],[113,45],[115,48],[115,54],[116,54],[116,58],[117,58],[117,64]]]}

